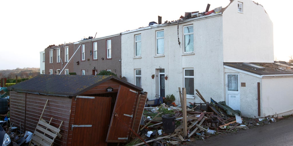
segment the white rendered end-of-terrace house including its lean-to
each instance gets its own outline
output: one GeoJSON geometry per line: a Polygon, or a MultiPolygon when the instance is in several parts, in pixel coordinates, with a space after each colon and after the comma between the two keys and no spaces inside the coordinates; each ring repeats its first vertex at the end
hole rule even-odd
{"type": "MultiPolygon", "coordinates": [[[[250,0],[231,1],[216,13],[191,15],[197,16],[122,32],[122,76],[147,91],[149,100],[156,95],[174,94],[178,105],[178,87],[184,87],[187,102],[202,102],[195,94],[198,89],[208,102],[209,98],[226,101],[245,117],[291,112],[289,104],[280,109],[272,105],[276,100],[269,98],[273,98],[272,89],[279,91],[276,82],[292,83],[292,72],[270,72],[287,74],[284,78],[269,74],[263,77],[233,66],[243,62],[274,63],[273,25],[261,5],[250,0]],[[255,102],[258,94],[260,103],[255,102]]],[[[289,88],[287,83],[283,87],[289,88]]],[[[290,100],[288,96],[284,93],[282,98],[290,100]]]]}

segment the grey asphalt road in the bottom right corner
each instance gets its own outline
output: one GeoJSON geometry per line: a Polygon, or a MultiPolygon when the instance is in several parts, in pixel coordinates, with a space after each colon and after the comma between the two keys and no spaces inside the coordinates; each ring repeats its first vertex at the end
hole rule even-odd
{"type": "Polygon", "coordinates": [[[293,146],[293,117],[271,124],[206,137],[188,146],[293,146]]]}

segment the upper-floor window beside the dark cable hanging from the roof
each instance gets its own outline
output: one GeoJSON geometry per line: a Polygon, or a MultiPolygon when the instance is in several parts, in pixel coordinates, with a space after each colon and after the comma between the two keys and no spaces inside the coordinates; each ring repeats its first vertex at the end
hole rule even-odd
{"type": "Polygon", "coordinates": [[[184,52],[193,52],[193,25],[184,27],[184,52]]]}

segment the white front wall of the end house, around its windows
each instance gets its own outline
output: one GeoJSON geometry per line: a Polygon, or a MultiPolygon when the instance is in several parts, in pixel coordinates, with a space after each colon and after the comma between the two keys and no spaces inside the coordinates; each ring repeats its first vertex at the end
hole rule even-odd
{"type": "MultiPolygon", "coordinates": [[[[204,17],[202,17],[204,18],[204,17]]],[[[202,19],[200,18],[200,19],[202,19]]],[[[197,19],[198,20],[198,19],[197,19]]],[[[158,69],[165,69],[165,94],[174,94],[178,104],[178,87],[183,87],[183,68],[194,68],[195,89],[206,98],[223,100],[223,53],[222,53],[222,16],[207,18],[200,21],[191,21],[179,24],[178,45],[177,24],[148,29],[137,29],[122,34],[122,76],[135,84],[134,69],[142,69],[142,88],[148,92],[148,98],[154,99],[159,88],[158,69]],[[183,55],[183,26],[193,24],[194,27],[194,54],[183,55]],[[155,31],[164,29],[163,57],[155,57],[155,31]],[[142,58],[134,59],[134,35],[142,35],[142,58]],[[158,77],[151,79],[151,75],[158,77]]],[[[196,93],[196,91],[195,91],[196,93]]],[[[188,102],[202,102],[195,95],[195,99],[188,102]]]]}

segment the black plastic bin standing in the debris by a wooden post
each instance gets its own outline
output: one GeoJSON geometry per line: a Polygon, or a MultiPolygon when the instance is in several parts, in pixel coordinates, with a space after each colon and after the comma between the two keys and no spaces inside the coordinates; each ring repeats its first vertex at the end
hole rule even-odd
{"type": "Polygon", "coordinates": [[[175,114],[163,114],[162,121],[165,133],[173,133],[175,131],[175,114]]]}

